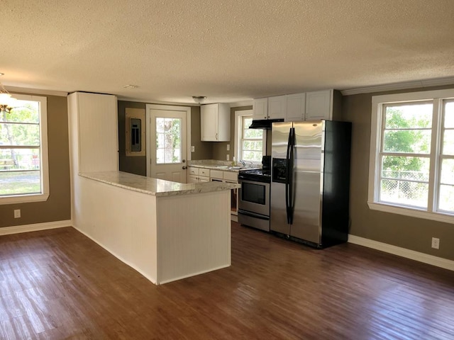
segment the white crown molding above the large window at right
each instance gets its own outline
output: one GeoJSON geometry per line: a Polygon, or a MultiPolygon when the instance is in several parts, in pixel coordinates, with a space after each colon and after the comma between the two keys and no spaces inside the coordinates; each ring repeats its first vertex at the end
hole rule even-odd
{"type": "Polygon", "coordinates": [[[405,89],[418,89],[419,87],[431,87],[431,86],[444,86],[454,84],[454,77],[437,78],[437,79],[426,79],[419,81],[407,81],[403,83],[384,84],[369,87],[360,87],[358,89],[342,90],[343,96],[350,96],[353,94],[372,94],[374,92],[384,91],[396,91],[405,89]]]}

